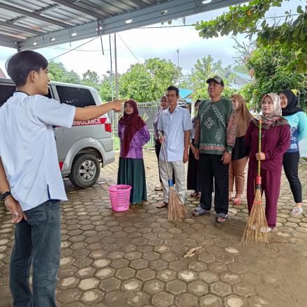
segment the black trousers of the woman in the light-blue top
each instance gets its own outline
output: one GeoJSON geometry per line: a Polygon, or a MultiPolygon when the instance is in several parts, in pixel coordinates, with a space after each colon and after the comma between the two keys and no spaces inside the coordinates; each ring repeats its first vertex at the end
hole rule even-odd
{"type": "Polygon", "coordinates": [[[286,152],[283,155],[283,169],[294,197],[294,202],[301,202],[301,181],[299,181],[299,151],[286,152]]]}

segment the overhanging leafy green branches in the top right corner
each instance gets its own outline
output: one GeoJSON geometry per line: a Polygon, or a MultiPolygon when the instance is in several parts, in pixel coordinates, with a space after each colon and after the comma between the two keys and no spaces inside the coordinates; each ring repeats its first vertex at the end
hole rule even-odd
{"type": "MultiPolygon", "coordinates": [[[[257,35],[257,44],[264,47],[277,45],[285,51],[294,52],[286,63],[287,70],[307,71],[307,6],[297,6],[297,14],[285,12],[285,21],[275,20],[269,24],[265,19],[267,11],[281,6],[284,0],[253,0],[248,4],[230,6],[227,13],[215,20],[197,22],[195,29],[203,38],[247,33],[251,39],[257,35]],[[260,23],[261,22],[261,23],[260,23]]],[[[290,0],[285,0],[290,1],[290,0]]]]}

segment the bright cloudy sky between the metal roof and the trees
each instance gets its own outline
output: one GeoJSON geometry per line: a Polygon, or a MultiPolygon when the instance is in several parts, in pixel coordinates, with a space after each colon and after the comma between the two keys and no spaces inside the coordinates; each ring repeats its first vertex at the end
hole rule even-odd
{"type": "MultiPolygon", "coordinates": [[[[298,5],[304,6],[304,0],[283,1],[281,8],[272,8],[267,16],[283,15],[285,10],[292,10],[296,13],[298,5]]],[[[211,20],[216,16],[223,14],[227,8],[214,10],[212,12],[201,13],[186,17],[186,24],[193,24],[200,20],[211,20]]],[[[172,25],[182,25],[180,19],[174,20],[172,25]]],[[[149,26],[150,27],[150,26],[149,26]]],[[[190,73],[197,59],[201,59],[209,54],[215,61],[221,60],[223,66],[234,65],[234,40],[231,36],[204,39],[200,38],[194,27],[174,27],[165,28],[167,24],[155,24],[151,27],[163,27],[163,29],[133,29],[119,32],[117,34],[117,66],[119,73],[125,73],[131,65],[144,63],[146,59],[158,57],[160,59],[169,59],[177,65],[179,50],[179,66],[183,68],[184,73],[190,73]],[[164,27],[163,27],[164,26],[164,27]],[[124,42],[124,43],[123,43],[124,42]],[[130,48],[126,47],[126,45],[130,48]]],[[[237,36],[240,41],[248,42],[244,35],[237,36]]],[[[59,54],[87,42],[80,40],[69,44],[62,44],[53,47],[41,48],[36,51],[43,54],[47,59],[57,57],[59,54]]],[[[103,36],[103,46],[105,54],[101,51],[100,39],[97,38],[91,43],[84,45],[78,51],[68,52],[57,59],[56,62],[62,62],[68,70],[75,70],[80,76],[89,70],[94,70],[98,75],[107,75],[110,70],[110,47],[109,36],[103,36]]],[[[114,56],[114,38],[112,35],[112,55],[114,56]]],[[[12,48],[0,46],[0,68],[6,73],[6,59],[16,51],[12,48]]],[[[114,57],[112,61],[114,70],[114,57]]]]}

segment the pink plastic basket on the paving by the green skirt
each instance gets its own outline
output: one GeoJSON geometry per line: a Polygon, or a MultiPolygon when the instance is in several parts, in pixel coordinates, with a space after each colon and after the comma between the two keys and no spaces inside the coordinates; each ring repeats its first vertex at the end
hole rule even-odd
{"type": "Polygon", "coordinates": [[[131,188],[132,187],[127,184],[117,184],[107,188],[107,190],[109,190],[113,211],[120,212],[129,209],[131,188]]]}

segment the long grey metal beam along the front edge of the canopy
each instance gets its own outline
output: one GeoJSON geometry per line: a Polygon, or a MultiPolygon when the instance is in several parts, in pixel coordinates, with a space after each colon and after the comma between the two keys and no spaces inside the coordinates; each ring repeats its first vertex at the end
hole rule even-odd
{"type": "MultiPolygon", "coordinates": [[[[88,22],[67,29],[46,33],[43,36],[27,38],[20,42],[20,49],[38,49],[62,43],[93,38],[99,34],[105,35],[114,32],[126,31],[138,27],[146,27],[150,24],[157,24],[167,20],[174,20],[180,17],[195,15],[197,13],[217,10],[227,6],[247,2],[246,0],[216,0],[211,3],[197,3],[197,0],[170,0],[156,5],[147,6],[147,8],[133,10],[129,13],[123,13],[113,17],[107,17],[100,22],[101,30],[97,30],[97,21],[88,22]],[[164,13],[166,12],[167,13],[164,13]],[[126,20],[132,19],[133,22],[126,24],[126,20]],[[75,36],[71,36],[75,33],[75,36]]],[[[144,30],[146,31],[146,30],[144,30]]],[[[161,30],[163,31],[163,30],[161,30]]]]}

